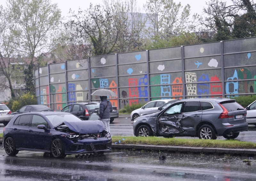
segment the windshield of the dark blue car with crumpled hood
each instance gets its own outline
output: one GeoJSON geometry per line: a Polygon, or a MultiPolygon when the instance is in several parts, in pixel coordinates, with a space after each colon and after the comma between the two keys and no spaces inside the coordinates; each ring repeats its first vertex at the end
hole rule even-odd
{"type": "Polygon", "coordinates": [[[55,127],[62,123],[63,121],[81,121],[80,118],[76,117],[73,114],[52,114],[45,116],[55,127]]]}

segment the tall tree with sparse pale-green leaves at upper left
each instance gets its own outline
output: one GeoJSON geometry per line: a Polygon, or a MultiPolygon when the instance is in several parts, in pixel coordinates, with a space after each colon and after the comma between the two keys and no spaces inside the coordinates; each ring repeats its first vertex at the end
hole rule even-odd
{"type": "Polygon", "coordinates": [[[36,56],[53,49],[60,25],[60,9],[50,0],[7,0],[7,6],[13,25],[20,33],[16,49],[28,57],[25,62],[28,68],[24,71],[26,88],[35,92],[36,56]]]}

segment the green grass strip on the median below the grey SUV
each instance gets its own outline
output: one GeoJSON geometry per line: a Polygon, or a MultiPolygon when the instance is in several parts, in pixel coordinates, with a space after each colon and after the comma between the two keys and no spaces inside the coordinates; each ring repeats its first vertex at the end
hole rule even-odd
{"type": "Polygon", "coordinates": [[[239,148],[255,149],[256,143],[238,140],[201,140],[163,137],[135,137],[135,136],[112,136],[112,142],[117,144],[140,144],[140,145],[163,145],[163,146],[186,146],[207,148],[239,148]],[[122,139],[125,140],[122,140],[122,139]]]}

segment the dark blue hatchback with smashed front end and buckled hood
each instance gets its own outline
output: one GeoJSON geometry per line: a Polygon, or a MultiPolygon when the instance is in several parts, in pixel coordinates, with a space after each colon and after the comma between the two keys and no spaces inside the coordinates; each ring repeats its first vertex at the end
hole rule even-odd
{"type": "MultiPolygon", "coordinates": [[[[3,133],[7,155],[20,150],[48,152],[55,158],[111,150],[112,139],[99,119],[84,121],[68,112],[29,112],[14,115],[3,133]]],[[[91,115],[91,116],[92,116],[91,115]]]]}

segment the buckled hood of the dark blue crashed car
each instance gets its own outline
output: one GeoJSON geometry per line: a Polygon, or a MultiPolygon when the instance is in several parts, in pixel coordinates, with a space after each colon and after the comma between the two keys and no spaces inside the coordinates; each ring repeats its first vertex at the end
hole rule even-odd
{"type": "Polygon", "coordinates": [[[100,120],[87,121],[63,121],[67,127],[80,134],[100,133],[104,131],[105,126],[100,120]]]}

